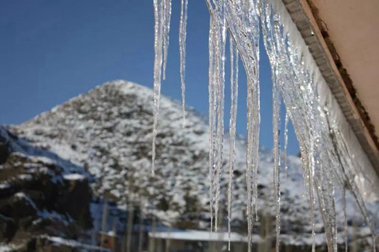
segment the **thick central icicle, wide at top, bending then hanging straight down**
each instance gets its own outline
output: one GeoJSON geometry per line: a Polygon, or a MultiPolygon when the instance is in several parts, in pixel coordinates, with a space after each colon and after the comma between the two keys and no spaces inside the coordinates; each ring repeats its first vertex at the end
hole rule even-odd
{"type": "Polygon", "coordinates": [[[228,1],[225,16],[247,74],[247,240],[252,249],[253,213],[257,219],[257,175],[259,146],[259,20],[257,1],[228,1]]]}

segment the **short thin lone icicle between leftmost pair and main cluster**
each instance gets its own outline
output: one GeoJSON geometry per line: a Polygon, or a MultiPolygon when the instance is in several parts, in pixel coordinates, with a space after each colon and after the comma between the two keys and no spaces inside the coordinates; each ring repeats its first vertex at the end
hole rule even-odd
{"type": "Polygon", "coordinates": [[[179,24],[179,48],[181,54],[181,91],[183,109],[183,127],[185,127],[185,40],[187,36],[187,5],[188,0],[181,0],[181,21],[179,24]]]}

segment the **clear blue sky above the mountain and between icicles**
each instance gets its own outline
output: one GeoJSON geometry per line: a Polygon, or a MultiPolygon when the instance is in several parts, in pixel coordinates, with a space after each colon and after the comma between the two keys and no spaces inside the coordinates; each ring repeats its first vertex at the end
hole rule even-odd
{"type": "MultiPolygon", "coordinates": [[[[167,79],[162,84],[162,93],[178,100],[179,13],[180,1],[174,0],[167,79]]],[[[106,81],[125,79],[152,87],[152,0],[1,0],[0,31],[0,124],[22,123],[106,81]]],[[[186,100],[204,115],[208,113],[208,33],[205,1],[189,1],[186,100]]],[[[271,148],[271,77],[263,45],[260,50],[260,143],[271,148]]],[[[228,123],[228,69],[226,78],[228,123]]],[[[240,64],[237,132],[244,136],[245,103],[246,77],[240,64]]],[[[291,127],[289,153],[298,153],[291,127]]]]}

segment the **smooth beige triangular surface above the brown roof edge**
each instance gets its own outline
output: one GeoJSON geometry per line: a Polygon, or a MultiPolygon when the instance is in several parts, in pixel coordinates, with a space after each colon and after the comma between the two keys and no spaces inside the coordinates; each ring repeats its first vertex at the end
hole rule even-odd
{"type": "Polygon", "coordinates": [[[379,1],[311,0],[379,134],[379,1]]]}

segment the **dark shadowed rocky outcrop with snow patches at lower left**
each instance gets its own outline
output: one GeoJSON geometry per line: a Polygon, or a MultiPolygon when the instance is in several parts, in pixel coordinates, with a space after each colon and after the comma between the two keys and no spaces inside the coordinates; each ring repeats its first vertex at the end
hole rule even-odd
{"type": "Polygon", "coordinates": [[[0,242],[30,244],[40,235],[75,239],[92,227],[86,176],[4,127],[0,156],[0,242]]]}

